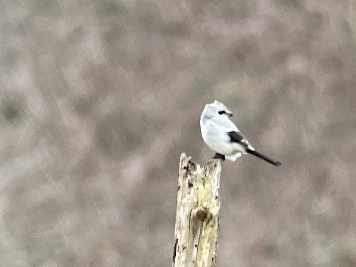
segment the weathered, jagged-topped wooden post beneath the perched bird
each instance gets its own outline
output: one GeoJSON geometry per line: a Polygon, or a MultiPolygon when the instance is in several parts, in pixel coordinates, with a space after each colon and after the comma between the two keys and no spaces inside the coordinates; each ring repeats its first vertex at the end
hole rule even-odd
{"type": "Polygon", "coordinates": [[[173,267],[215,266],[221,162],[200,167],[180,155],[173,267]]]}

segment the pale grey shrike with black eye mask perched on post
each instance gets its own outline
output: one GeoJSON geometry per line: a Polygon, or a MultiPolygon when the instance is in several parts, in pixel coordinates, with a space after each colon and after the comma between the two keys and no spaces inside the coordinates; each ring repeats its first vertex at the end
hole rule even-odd
{"type": "Polygon", "coordinates": [[[206,145],[216,152],[214,158],[235,161],[241,155],[249,153],[275,166],[282,164],[255,150],[234,122],[230,120],[232,116],[234,116],[232,112],[217,100],[214,103],[206,104],[201,113],[201,136],[206,145]]]}

